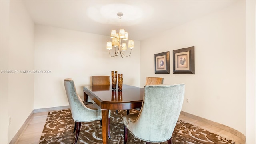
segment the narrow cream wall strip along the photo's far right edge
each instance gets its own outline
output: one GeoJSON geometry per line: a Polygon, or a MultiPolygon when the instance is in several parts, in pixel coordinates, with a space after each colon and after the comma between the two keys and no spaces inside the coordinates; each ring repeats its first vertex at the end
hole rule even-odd
{"type": "Polygon", "coordinates": [[[256,143],[255,0],[246,1],[246,144],[256,143]]]}

